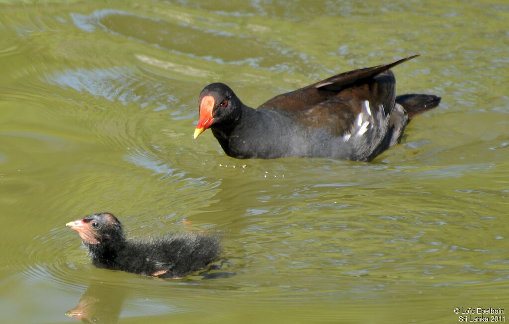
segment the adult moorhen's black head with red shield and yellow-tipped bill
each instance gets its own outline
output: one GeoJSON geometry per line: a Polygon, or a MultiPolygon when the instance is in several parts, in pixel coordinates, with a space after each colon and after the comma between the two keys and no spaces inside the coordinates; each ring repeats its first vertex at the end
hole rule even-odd
{"type": "Polygon", "coordinates": [[[224,83],[207,85],[200,94],[200,121],[194,130],[194,138],[209,127],[235,124],[240,118],[242,102],[224,83]]]}

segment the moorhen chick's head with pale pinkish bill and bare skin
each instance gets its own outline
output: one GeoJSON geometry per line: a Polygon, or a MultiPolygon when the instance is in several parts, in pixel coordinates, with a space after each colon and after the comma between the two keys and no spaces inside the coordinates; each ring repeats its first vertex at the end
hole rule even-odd
{"type": "Polygon", "coordinates": [[[81,240],[88,245],[125,240],[122,224],[110,213],[86,216],[69,222],[66,226],[76,230],[81,240]]]}

